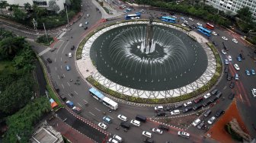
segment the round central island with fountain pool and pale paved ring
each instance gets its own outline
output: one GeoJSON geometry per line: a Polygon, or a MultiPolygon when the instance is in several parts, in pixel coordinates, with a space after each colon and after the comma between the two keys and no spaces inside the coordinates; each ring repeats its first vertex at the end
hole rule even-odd
{"type": "Polygon", "coordinates": [[[76,62],[83,77],[120,94],[151,99],[190,94],[213,78],[216,59],[205,38],[153,22],[150,49],[143,46],[147,24],[117,22],[95,32],[76,62]]]}

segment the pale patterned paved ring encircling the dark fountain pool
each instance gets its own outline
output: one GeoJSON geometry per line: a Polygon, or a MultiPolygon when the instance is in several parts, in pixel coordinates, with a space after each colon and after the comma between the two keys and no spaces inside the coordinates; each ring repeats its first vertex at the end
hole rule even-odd
{"type": "MultiPolygon", "coordinates": [[[[108,78],[104,77],[104,75],[102,75],[101,72],[95,68],[94,66],[95,63],[93,64],[93,62],[91,61],[90,51],[94,41],[97,40],[98,37],[101,37],[103,33],[106,33],[107,31],[112,30],[114,28],[123,27],[126,25],[147,24],[147,23],[149,22],[134,21],[134,22],[114,24],[114,25],[111,25],[110,27],[105,27],[104,29],[94,33],[94,35],[90,37],[88,41],[85,43],[85,46],[82,51],[82,59],[79,59],[76,61],[78,71],[81,73],[83,78],[87,78],[88,76],[91,75],[94,78],[94,80],[104,85],[104,87],[110,88],[113,91],[120,92],[121,94],[134,96],[134,97],[142,97],[142,98],[167,98],[167,97],[178,97],[184,94],[189,94],[193,91],[196,91],[200,87],[203,87],[203,85],[205,85],[208,81],[210,81],[211,78],[213,78],[213,75],[216,71],[216,59],[210,47],[206,45],[208,40],[200,36],[200,34],[195,33],[194,31],[187,32],[179,27],[174,27],[171,24],[163,24],[161,22],[154,22],[153,24],[158,26],[168,27],[168,28],[174,28],[176,30],[180,30],[184,32],[187,35],[196,37],[197,42],[200,43],[200,45],[203,47],[203,50],[206,52],[206,59],[207,59],[206,70],[203,71],[203,74],[201,74],[200,77],[198,77],[193,82],[190,82],[189,84],[185,84],[182,87],[177,87],[177,88],[167,89],[167,90],[160,90],[160,91],[141,90],[139,89],[139,87],[135,88],[135,87],[123,86],[121,84],[117,84],[117,82],[110,81],[108,78]]],[[[155,81],[155,83],[157,84],[157,81],[155,81]]]]}

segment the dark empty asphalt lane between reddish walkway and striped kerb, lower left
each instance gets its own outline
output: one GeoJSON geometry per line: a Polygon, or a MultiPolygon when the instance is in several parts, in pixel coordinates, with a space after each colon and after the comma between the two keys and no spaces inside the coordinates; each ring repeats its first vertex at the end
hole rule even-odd
{"type": "MultiPolygon", "coordinates": [[[[82,132],[88,138],[93,139],[97,142],[103,142],[106,135],[104,133],[98,131],[98,129],[95,129],[96,125],[90,126],[85,122],[82,122],[82,120],[77,119],[75,116],[73,116],[71,113],[69,113],[66,109],[60,109],[57,112],[57,115],[60,119],[65,121],[69,126],[72,126],[72,128],[78,130],[79,132],[82,132]]],[[[96,127],[98,128],[98,127],[96,127]]]]}

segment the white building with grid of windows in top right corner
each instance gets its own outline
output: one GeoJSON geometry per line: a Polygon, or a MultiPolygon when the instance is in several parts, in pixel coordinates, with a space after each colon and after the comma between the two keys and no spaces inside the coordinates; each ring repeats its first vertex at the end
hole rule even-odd
{"type": "Polygon", "coordinates": [[[248,7],[252,17],[256,19],[256,0],[206,0],[206,5],[213,5],[214,8],[231,14],[236,14],[240,8],[248,7]]]}

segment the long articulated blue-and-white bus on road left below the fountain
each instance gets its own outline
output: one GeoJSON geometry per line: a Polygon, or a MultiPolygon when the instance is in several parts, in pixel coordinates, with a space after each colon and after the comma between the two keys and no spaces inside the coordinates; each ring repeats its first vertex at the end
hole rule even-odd
{"type": "Polygon", "coordinates": [[[97,91],[95,88],[91,88],[89,89],[89,93],[92,97],[102,102],[105,106],[108,106],[111,110],[117,110],[118,103],[108,97],[105,97],[100,91],[97,91]]]}

